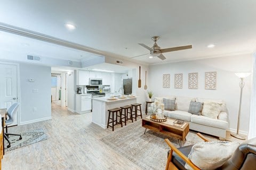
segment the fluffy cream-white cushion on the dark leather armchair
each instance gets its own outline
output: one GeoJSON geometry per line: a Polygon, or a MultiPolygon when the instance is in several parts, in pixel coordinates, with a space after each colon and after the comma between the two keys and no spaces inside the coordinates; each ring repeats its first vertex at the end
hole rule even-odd
{"type": "MultiPolygon", "coordinates": [[[[216,169],[231,158],[238,146],[238,142],[200,142],[192,147],[188,158],[201,169],[216,169]]],[[[185,168],[193,169],[187,164],[185,168]]]]}

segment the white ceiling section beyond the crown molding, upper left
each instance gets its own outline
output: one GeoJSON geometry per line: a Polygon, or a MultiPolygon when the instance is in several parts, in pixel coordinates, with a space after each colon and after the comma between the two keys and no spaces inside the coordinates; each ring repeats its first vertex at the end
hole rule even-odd
{"type": "Polygon", "coordinates": [[[77,62],[80,62],[83,59],[90,60],[95,56],[99,56],[97,54],[22,37],[3,31],[0,31],[0,50],[8,52],[16,51],[25,55],[37,55],[63,60],[67,59],[77,62]]]}

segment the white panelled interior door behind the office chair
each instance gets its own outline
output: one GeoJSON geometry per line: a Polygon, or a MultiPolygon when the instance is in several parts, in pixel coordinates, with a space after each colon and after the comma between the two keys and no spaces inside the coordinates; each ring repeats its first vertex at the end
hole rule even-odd
{"type": "MultiPolygon", "coordinates": [[[[0,108],[7,108],[18,101],[17,65],[0,63],[0,108]]],[[[13,118],[18,124],[17,117],[13,118]]]]}

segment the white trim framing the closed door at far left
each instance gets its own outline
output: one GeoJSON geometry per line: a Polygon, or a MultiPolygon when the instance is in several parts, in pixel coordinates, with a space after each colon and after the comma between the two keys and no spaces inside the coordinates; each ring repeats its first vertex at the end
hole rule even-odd
{"type": "MultiPolygon", "coordinates": [[[[21,100],[20,100],[20,97],[21,97],[21,94],[20,94],[20,64],[19,63],[12,63],[12,62],[3,62],[3,61],[0,61],[0,64],[8,64],[8,65],[15,65],[16,66],[16,71],[17,71],[17,103],[21,103],[21,100]]],[[[18,108],[18,120],[17,120],[17,124],[20,125],[20,122],[21,122],[21,105],[20,107],[18,108]]]]}

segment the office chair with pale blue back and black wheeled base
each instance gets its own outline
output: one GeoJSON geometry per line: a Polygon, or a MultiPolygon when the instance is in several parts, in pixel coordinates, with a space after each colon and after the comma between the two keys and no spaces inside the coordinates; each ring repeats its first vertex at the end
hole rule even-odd
{"type": "Polygon", "coordinates": [[[9,143],[9,145],[7,145],[7,148],[11,147],[11,142],[9,141],[9,135],[15,135],[15,136],[20,136],[19,140],[22,139],[20,134],[12,134],[12,133],[8,133],[8,128],[7,125],[10,125],[13,123],[13,118],[17,117],[17,110],[18,110],[19,104],[18,103],[14,103],[12,104],[12,106],[7,110],[7,116],[9,117],[6,121],[5,121],[5,133],[4,133],[4,138],[7,140],[7,142],[9,143]]]}

